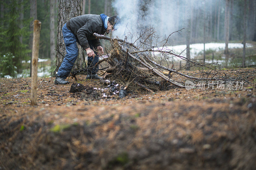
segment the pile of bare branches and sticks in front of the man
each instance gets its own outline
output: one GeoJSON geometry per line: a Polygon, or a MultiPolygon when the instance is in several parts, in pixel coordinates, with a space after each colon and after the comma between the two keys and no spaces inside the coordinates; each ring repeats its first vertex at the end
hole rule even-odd
{"type": "MultiPolygon", "coordinates": [[[[181,30],[177,32],[180,33],[181,30]]],[[[157,42],[159,38],[155,36],[154,29],[149,28],[141,32],[132,43],[127,41],[127,37],[124,40],[97,33],[93,35],[97,39],[106,39],[110,42],[106,48],[107,55],[96,64],[102,65],[103,61],[107,62],[107,67],[106,63],[101,66],[107,68],[101,69],[103,79],[112,79],[134,92],[141,92],[141,89],[154,92],[176,87],[185,88],[186,80],[196,82],[228,79],[216,69],[217,63],[202,63],[198,59],[187,59],[168,49],[168,38],[172,34],[157,42]],[[185,61],[186,65],[175,68],[174,61],[177,59],[185,61]],[[191,67],[200,67],[200,73],[189,75],[179,71],[191,67]],[[179,81],[174,75],[179,75],[179,81]]]]}

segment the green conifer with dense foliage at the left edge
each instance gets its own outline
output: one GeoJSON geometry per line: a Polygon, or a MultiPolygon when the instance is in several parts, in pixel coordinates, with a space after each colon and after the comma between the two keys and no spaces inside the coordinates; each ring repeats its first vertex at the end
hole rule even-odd
{"type": "Polygon", "coordinates": [[[26,39],[20,41],[20,37],[28,37],[28,19],[23,20],[23,27],[20,28],[20,9],[27,0],[10,0],[5,1],[4,4],[4,25],[0,27],[0,72],[2,76],[11,75],[16,76],[22,71],[22,60],[28,60],[28,46],[23,43],[26,39]],[[12,58],[6,59],[6,57],[12,58]],[[7,62],[7,63],[4,63],[7,62]],[[6,64],[5,67],[1,67],[6,64]],[[13,66],[13,67],[12,67],[13,66]],[[12,69],[9,69],[12,68],[12,69]]]}

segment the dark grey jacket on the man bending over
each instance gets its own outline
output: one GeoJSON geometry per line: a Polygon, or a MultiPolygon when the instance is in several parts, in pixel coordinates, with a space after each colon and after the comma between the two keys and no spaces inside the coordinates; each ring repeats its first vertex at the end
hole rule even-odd
{"type": "Polygon", "coordinates": [[[100,40],[92,34],[104,34],[106,32],[100,15],[80,15],[71,18],[67,22],[67,28],[72,31],[79,40],[83,49],[89,48],[88,40],[92,40],[94,46],[100,46],[100,40]]]}

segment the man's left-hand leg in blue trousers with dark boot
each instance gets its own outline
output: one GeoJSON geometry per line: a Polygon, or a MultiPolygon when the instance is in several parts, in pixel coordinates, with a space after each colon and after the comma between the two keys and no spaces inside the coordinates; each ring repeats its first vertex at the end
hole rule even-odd
{"type": "Polygon", "coordinates": [[[76,37],[75,35],[67,29],[66,24],[62,28],[63,39],[66,45],[66,52],[65,58],[63,59],[61,66],[58,70],[58,75],[56,75],[55,84],[67,84],[68,81],[65,79],[68,77],[70,73],[73,63],[75,63],[77,55],[78,55],[78,48],[76,45],[76,37]],[[69,60],[67,60],[67,59],[69,60]],[[71,63],[71,62],[72,63],[71,63]],[[57,79],[58,78],[58,79],[57,79]]]}

